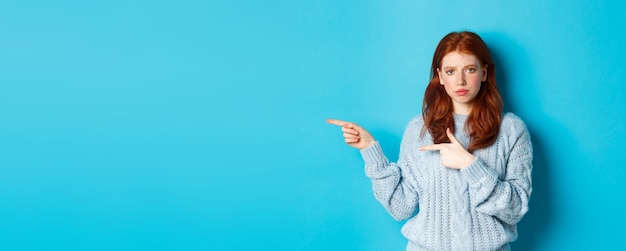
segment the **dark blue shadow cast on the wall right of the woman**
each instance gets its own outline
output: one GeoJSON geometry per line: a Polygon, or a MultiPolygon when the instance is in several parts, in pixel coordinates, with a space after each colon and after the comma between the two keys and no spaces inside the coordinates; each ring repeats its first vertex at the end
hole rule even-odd
{"type": "MultiPolygon", "coordinates": [[[[529,111],[529,109],[517,109],[518,107],[515,107],[514,104],[540,104],[539,96],[532,92],[537,89],[533,87],[539,83],[536,83],[537,80],[532,74],[515,76],[516,73],[528,74],[528,69],[532,69],[530,67],[532,62],[530,62],[524,48],[520,44],[502,34],[487,33],[482,36],[489,45],[494,64],[496,65],[498,88],[504,99],[505,112],[513,112],[525,121],[533,143],[533,192],[530,199],[530,209],[518,223],[519,237],[511,246],[513,250],[537,250],[545,239],[555,213],[552,204],[554,200],[552,199],[550,188],[552,183],[550,167],[553,164],[548,154],[549,149],[546,148],[547,142],[545,141],[547,137],[539,133],[539,125],[528,120],[530,116],[524,116],[523,114],[523,111],[529,111]],[[510,78],[511,75],[515,77],[510,78]],[[513,82],[512,79],[520,82],[513,82]],[[532,83],[523,83],[523,81],[531,81],[532,83]],[[514,88],[510,86],[511,84],[523,84],[525,87],[514,88]],[[512,91],[512,89],[524,89],[529,92],[516,92],[512,91]],[[515,96],[517,93],[523,93],[524,96],[515,96]],[[523,101],[514,102],[515,99],[523,99],[523,101]]],[[[533,109],[530,112],[532,112],[533,121],[540,121],[542,125],[557,125],[554,121],[550,121],[548,116],[540,109],[533,109]]],[[[559,131],[563,132],[564,130],[559,131]]]]}

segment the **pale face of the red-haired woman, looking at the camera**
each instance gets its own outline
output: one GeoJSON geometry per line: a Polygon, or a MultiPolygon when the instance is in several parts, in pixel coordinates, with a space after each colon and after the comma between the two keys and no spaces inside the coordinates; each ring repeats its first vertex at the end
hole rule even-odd
{"type": "Polygon", "coordinates": [[[487,81],[487,65],[481,65],[472,54],[454,51],[443,57],[437,74],[452,98],[454,113],[469,114],[481,83],[487,81]]]}

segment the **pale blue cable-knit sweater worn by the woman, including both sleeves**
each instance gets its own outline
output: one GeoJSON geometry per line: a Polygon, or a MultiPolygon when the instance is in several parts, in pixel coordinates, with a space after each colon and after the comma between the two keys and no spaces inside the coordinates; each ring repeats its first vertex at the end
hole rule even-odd
{"type": "MultiPolygon", "coordinates": [[[[455,137],[467,149],[466,119],[454,115],[455,137]]],[[[418,151],[433,143],[429,133],[420,137],[423,125],[421,116],[408,124],[397,163],[378,142],[361,150],[376,199],[394,219],[409,219],[402,227],[407,250],[508,250],[532,191],[524,122],[506,113],[496,142],[474,151],[475,161],[461,170],[443,167],[438,151],[418,151]]]]}

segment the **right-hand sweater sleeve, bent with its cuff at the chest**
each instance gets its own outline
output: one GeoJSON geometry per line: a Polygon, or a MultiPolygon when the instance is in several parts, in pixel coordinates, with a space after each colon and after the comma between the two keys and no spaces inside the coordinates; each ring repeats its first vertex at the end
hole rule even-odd
{"type": "Polygon", "coordinates": [[[469,183],[471,206],[510,225],[526,214],[532,192],[532,144],[526,126],[521,120],[518,122],[513,125],[514,133],[508,136],[512,144],[504,179],[479,158],[461,170],[469,183]]]}

